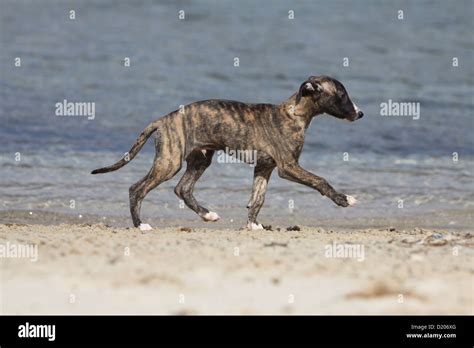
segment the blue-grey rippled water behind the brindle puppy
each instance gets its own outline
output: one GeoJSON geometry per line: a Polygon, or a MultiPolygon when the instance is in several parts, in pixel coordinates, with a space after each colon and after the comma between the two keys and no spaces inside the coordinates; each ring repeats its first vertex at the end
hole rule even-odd
{"type": "MultiPolygon", "coordinates": [[[[289,214],[290,200],[292,214],[315,220],[472,212],[472,1],[0,0],[0,6],[2,210],[126,216],[128,187],[151,165],[152,142],[119,172],[88,173],[120,158],[149,122],[201,99],[279,103],[309,75],[324,74],[339,79],[366,116],[354,123],[315,118],[301,163],[357,196],[359,208],[336,208],[275,173],[262,216],[289,214]],[[55,116],[63,99],[95,102],[95,119],[55,116]],[[388,99],[419,102],[420,119],[380,116],[388,99]]],[[[194,219],[172,192],[179,177],[150,193],[144,215],[194,219]]],[[[196,195],[225,218],[243,219],[251,182],[248,166],[215,161],[196,195]]]]}

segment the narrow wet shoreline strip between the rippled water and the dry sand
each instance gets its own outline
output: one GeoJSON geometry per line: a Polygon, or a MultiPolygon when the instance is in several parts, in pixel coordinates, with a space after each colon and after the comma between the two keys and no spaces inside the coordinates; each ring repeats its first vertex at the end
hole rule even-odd
{"type": "MultiPolygon", "coordinates": [[[[246,215],[239,214],[239,218],[221,219],[217,222],[203,222],[192,212],[186,218],[181,216],[172,218],[144,218],[144,223],[149,223],[155,228],[189,227],[205,228],[209,230],[235,229],[246,226],[246,215]],[[241,216],[240,216],[241,215],[241,216]]],[[[0,210],[0,222],[3,224],[31,224],[51,225],[74,224],[96,225],[104,224],[108,227],[133,229],[131,218],[125,216],[104,216],[96,214],[66,214],[54,211],[41,210],[0,210]]],[[[291,226],[307,226],[325,229],[365,229],[365,228],[397,228],[412,229],[422,228],[441,231],[473,231],[474,210],[445,210],[426,212],[425,214],[405,214],[386,217],[334,217],[334,218],[308,218],[295,216],[268,216],[261,214],[259,222],[272,229],[285,229],[291,226]]]]}

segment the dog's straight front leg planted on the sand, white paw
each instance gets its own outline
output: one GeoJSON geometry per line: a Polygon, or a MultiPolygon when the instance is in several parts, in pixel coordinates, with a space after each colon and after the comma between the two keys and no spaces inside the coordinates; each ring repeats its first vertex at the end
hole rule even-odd
{"type": "Polygon", "coordinates": [[[272,174],[275,165],[259,166],[254,170],[252,197],[247,205],[249,209],[247,229],[261,230],[263,226],[257,222],[257,215],[265,201],[265,192],[267,191],[268,180],[272,174]]]}

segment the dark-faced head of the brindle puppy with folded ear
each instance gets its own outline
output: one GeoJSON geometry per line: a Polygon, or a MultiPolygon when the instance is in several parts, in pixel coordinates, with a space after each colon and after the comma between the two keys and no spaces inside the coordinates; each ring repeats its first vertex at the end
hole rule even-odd
{"type": "Polygon", "coordinates": [[[328,76],[311,76],[301,84],[295,99],[295,115],[308,113],[326,113],[351,122],[364,116],[344,85],[328,76]]]}

